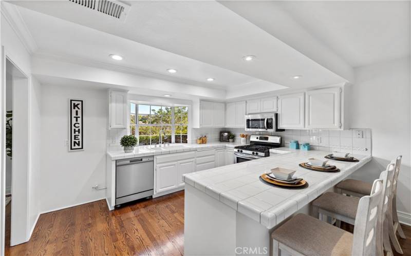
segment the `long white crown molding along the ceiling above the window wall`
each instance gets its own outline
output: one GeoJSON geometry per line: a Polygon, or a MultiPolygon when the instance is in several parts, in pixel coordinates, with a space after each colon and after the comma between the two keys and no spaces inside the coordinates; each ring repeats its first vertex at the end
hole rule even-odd
{"type": "Polygon", "coordinates": [[[87,67],[92,67],[92,68],[100,68],[100,69],[118,71],[118,72],[131,74],[131,75],[138,75],[138,76],[144,76],[144,77],[148,77],[148,78],[166,80],[166,81],[170,81],[170,82],[188,84],[190,86],[213,88],[213,89],[217,89],[217,90],[221,90],[221,91],[226,91],[227,90],[227,86],[225,86],[223,84],[210,84],[210,83],[206,83],[206,82],[198,82],[198,81],[194,81],[194,80],[190,80],[190,79],[167,76],[167,75],[163,75],[163,74],[154,73],[154,72],[151,72],[151,71],[146,71],[146,70],[140,70],[140,69],[136,69],[136,68],[130,68],[130,67],[125,67],[125,66],[115,65],[115,64],[111,64],[111,63],[97,61],[97,60],[90,60],[90,59],[87,59],[87,58],[81,58],[81,57],[77,57],[77,56],[56,55],[56,54],[49,54],[49,53],[40,51],[40,52],[36,52],[33,55],[33,57],[63,61],[63,62],[68,62],[68,63],[87,66],[87,67]]]}

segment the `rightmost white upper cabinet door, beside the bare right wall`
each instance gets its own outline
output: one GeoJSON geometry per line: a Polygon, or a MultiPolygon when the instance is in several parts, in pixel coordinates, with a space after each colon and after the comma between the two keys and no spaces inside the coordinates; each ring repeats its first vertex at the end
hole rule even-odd
{"type": "Polygon", "coordinates": [[[341,123],[340,87],[311,90],[306,93],[306,128],[340,129],[341,123]]]}

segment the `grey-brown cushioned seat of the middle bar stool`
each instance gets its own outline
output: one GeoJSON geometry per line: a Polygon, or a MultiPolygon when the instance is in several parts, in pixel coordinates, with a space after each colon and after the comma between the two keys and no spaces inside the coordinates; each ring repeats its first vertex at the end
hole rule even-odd
{"type": "Polygon", "coordinates": [[[347,197],[341,194],[327,192],[315,199],[312,205],[335,212],[339,215],[347,216],[351,219],[356,219],[358,202],[360,202],[360,198],[358,197],[347,197]]]}

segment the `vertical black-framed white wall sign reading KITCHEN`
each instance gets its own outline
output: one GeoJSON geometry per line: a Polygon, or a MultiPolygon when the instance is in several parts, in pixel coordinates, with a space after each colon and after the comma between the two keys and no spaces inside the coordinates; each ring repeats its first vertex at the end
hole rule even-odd
{"type": "Polygon", "coordinates": [[[69,151],[83,148],[83,100],[70,99],[69,119],[69,151]]]}

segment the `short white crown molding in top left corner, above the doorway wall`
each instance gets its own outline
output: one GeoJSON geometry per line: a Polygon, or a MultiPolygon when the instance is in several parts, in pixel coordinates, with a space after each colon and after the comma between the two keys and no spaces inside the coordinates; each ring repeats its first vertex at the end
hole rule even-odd
{"type": "Polygon", "coordinates": [[[7,20],[8,24],[10,24],[10,27],[14,30],[18,39],[20,39],[29,54],[33,54],[38,49],[38,46],[28,30],[20,11],[18,11],[17,6],[3,1],[1,5],[2,15],[7,20]]]}

